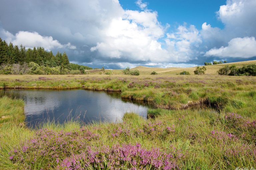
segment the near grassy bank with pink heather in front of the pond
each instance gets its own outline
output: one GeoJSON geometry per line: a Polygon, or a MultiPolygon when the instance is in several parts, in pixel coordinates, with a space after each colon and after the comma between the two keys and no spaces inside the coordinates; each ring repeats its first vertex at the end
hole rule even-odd
{"type": "MultiPolygon", "coordinates": [[[[254,94],[248,94],[251,101],[254,94]]],[[[23,115],[21,101],[0,100],[8,103],[1,109],[9,115],[23,115]],[[10,105],[19,109],[14,112],[10,105]]],[[[9,119],[0,124],[0,169],[255,167],[256,117],[240,111],[242,116],[224,108],[220,112],[209,108],[151,109],[154,119],[129,113],[119,124],[46,123],[38,129],[9,119]]]]}

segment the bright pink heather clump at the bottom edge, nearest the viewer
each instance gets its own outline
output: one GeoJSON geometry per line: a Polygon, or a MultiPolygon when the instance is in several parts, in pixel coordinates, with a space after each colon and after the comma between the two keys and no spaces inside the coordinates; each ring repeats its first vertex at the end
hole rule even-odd
{"type": "Polygon", "coordinates": [[[65,158],[57,169],[179,169],[176,159],[171,153],[161,152],[158,148],[146,150],[140,144],[88,147],[81,154],[65,158]]]}

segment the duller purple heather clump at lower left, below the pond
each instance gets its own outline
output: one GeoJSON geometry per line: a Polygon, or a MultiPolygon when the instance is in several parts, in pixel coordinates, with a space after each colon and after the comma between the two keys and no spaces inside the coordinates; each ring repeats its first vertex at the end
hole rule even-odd
{"type": "Polygon", "coordinates": [[[33,164],[36,160],[48,162],[51,165],[73,153],[80,153],[88,142],[97,140],[98,135],[81,128],[72,132],[56,132],[48,129],[38,130],[35,137],[22,144],[21,149],[10,153],[13,163],[33,164]]]}

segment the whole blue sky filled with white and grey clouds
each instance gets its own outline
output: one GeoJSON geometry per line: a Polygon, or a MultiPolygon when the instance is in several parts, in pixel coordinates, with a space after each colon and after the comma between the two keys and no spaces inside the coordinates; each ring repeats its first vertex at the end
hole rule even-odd
{"type": "Polygon", "coordinates": [[[1,0],[0,37],[122,69],[256,59],[256,0],[1,0]]]}

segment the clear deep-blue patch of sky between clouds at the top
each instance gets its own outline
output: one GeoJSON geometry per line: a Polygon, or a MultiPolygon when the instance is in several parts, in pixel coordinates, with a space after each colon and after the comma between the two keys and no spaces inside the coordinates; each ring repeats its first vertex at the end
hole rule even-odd
{"type": "MultiPolygon", "coordinates": [[[[133,0],[119,0],[124,9],[141,10],[133,0]]],[[[161,24],[170,24],[171,28],[182,25],[195,25],[201,29],[202,23],[211,23],[213,27],[223,28],[216,12],[225,0],[147,0],[147,8],[158,13],[161,24]]],[[[170,29],[171,29],[170,28],[170,29]]]]}

